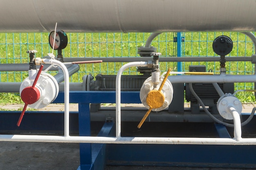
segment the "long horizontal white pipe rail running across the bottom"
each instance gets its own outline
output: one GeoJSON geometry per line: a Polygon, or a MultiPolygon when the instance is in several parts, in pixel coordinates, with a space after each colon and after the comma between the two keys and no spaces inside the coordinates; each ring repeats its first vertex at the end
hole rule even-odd
{"type": "Polygon", "coordinates": [[[256,138],[186,138],[186,137],[84,137],[46,135],[0,135],[0,141],[97,143],[97,144],[190,144],[256,145],[256,138]]]}

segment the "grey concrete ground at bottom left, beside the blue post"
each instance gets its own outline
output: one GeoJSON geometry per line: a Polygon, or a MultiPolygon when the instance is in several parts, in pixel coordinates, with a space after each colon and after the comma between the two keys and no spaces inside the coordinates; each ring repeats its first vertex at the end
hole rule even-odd
{"type": "Polygon", "coordinates": [[[76,170],[79,144],[0,142],[0,170],[76,170]]]}

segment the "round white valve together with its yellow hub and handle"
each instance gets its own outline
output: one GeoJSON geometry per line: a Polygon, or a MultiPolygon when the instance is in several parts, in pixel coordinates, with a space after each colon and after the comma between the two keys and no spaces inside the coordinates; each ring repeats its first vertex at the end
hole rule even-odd
{"type": "Polygon", "coordinates": [[[140,99],[142,104],[148,108],[147,113],[141,119],[138,128],[141,128],[142,124],[148,117],[151,110],[160,111],[168,107],[173,99],[173,86],[171,82],[167,79],[171,68],[168,69],[165,77],[161,77],[162,83],[159,86],[158,90],[153,88],[153,82],[151,77],[145,80],[140,91],[140,99]]]}

